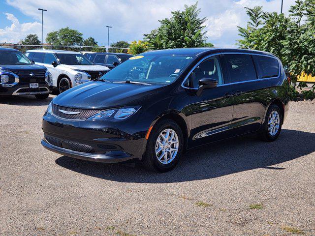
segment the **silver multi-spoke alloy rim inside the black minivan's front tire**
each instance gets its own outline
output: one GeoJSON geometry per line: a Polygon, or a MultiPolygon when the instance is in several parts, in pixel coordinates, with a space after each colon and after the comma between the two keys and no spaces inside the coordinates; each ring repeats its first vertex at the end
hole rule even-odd
{"type": "Polygon", "coordinates": [[[173,129],[165,129],[159,135],[156,142],[156,155],[162,164],[168,164],[174,160],[178,153],[179,139],[173,129]]]}

